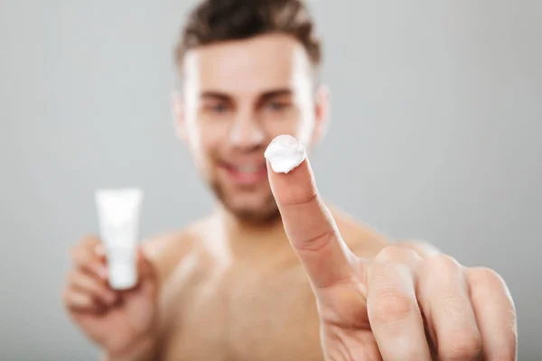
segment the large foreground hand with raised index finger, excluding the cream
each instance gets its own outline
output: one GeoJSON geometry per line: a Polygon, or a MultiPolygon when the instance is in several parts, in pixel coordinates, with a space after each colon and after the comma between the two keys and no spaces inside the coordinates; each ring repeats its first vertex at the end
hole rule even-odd
{"type": "Polygon", "coordinates": [[[498,273],[398,245],[362,259],[342,240],[308,159],[268,171],[316,297],[326,360],[516,360],[514,304],[498,273]]]}

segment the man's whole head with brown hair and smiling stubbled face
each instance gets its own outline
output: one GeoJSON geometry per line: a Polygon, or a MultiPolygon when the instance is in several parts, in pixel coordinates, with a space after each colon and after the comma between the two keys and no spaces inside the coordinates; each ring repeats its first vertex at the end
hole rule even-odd
{"type": "Polygon", "coordinates": [[[321,45],[300,0],[203,0],[176,48],[176,125],[223,205],[253,222],[278,217],[264,152],[279,134],[307,150],[324,133],[321,45]]]}

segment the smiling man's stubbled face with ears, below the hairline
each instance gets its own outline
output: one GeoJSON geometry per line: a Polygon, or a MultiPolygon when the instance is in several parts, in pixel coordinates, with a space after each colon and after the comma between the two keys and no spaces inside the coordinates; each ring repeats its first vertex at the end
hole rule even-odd
{"type": "Polygon", "coordinates": [[[286,35],[262,35],[192,50],[183,67],[183,97],[175,110],[204,179],[239,218],[276,218],[266,146],[292,134],[310,149],[326,113],[304,48],[286,35]]]}

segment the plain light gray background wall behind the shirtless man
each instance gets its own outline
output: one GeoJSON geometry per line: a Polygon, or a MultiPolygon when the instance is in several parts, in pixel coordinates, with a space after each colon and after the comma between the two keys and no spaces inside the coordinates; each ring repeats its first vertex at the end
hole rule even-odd
{"type": "MultiPolygon", "coordinates": [[[[310,3],[333,90],[322,192],[495,268],[519,359],[542,359],[542,2],[310,3]]],[[[143,236],[209,210],[170,112],[193,4],[0,0],[0,359],[96,358],[60,301],[69,246],[97,230],[96,187],[145,189],[143,236]]]]}

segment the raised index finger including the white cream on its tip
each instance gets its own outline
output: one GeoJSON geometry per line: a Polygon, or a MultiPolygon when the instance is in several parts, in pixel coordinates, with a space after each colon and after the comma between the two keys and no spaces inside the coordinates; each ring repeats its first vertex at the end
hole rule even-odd
{"type": "Polygon", "coordinates": [[[279,135],[266,149],[267,173],[286,235],[316,288],[352,275],[352,254],[323,204],[304,147],[279,135]]]}

